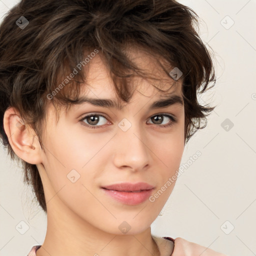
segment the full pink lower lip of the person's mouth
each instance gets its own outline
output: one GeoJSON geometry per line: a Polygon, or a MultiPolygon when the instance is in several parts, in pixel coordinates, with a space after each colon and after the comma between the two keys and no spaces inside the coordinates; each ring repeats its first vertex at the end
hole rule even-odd
{"type": "Polygon", "coordinates": [[[123,191],[116,191],[116,190],[108,190],[106,188],[102,188],[106,194],[110,195],[114,199],[121,201],[125,204],[135,205],[139,204],[150,196],[152,189],[150,190],[142,190],[140,192],[123,192],[123,191]]]}

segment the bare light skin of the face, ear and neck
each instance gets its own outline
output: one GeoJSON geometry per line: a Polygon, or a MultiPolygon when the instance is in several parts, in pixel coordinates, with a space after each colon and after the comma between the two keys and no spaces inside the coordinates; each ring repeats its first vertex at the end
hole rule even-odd
{"type": "MultiPolygon", "coordinates": [[[[130,54],[136,63],[165,81],[162,89],[173,83],[153,57],[136,50],[130,54]]],[[[90,61],[89,68],[89,90],[84,86],[81,94],[116,99],[112,81],[98,55],[90,61]]],[[[183,105],[149,110],[149,105],[165,92],[144,79],[134,81],[138,86],[121,110],[83,103],[73,105],[67,112],[62,109],[56,122],[55,109],[49,102],[42,136],[45,151],[41,150],[37,137],[33,139],[33,130],[25,126],[17,128],[18,110],[13,107],[6,110],[4,129],[12,148],[20,158],[36,164],[43,184],[47,232],[37,256],[157,255],[150,224],[175,182],[154,202],[146,200],[138,205],[118,202],[100,188],[143,181],[155,186],[154,194],[180,165],[184,149],[183,105]],[[82,122],[89,123],[88,118],[87,122],[79,121],[91,112],[106,116],[106,119],[99,117],[99,123],[95,124],[101,127],[92,129],[82,125],[82,122]],[[161,127],[171,120],[164,117],[162,123],[157,123],[150,118],[161,113],[175,116],[177,122],[161,127]],[[123,118],[131,123],[125,132],[118,127],[123,118]],[[67,178],[72,169],[80,175],[74,183],[67,178]],[[118,228],[123,221],[131,227],[127,233],[118,228]]],[[[176,82],[170,91],[181,96],[181,82],[176,82]]]]}

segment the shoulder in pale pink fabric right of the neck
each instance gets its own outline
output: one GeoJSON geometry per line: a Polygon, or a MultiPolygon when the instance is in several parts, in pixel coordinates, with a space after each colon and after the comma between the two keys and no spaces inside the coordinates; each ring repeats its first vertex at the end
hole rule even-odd
{"type": "Polygon", "coordinates": [[[174,249],[171,256],[227,256],[223,253],[214,251],[194,242],[190,242],[181,237],[174,239],[174,249]]]}

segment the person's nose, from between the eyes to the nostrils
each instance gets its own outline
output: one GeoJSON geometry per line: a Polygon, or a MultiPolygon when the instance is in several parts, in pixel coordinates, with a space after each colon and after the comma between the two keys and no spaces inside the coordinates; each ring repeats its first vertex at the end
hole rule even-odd
{"type": "Polygon", "coordinates": [[[136,171],[148,167],[151,150],[139,123],[120,122],[114,143],[113,162],[117,168],[129,167],[136,171]]]}

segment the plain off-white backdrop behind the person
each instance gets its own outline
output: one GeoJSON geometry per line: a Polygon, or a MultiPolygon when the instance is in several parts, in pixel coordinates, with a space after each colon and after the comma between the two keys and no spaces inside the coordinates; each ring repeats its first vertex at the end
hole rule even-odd
{"type": "MultiPolygon", "coordinates": [[[[0,0],[0,18],[17,0],[0,0]]],[[[179,0],[200,17],[199,35],[214,51],[216,85],[201,103],[216,105],[207,126],[185,145],[184,171],[152,234],[182,237],[227,255],[256,255],[256,0],[179,0]],[[192,163],[199,150],[201,155],[192,163]]],[[[0,256],[42,244],[46,216],[0,147],[0,256]],[[21,234],[17,225],[28,230],[21,234]]]]}

